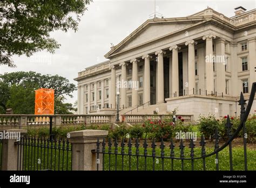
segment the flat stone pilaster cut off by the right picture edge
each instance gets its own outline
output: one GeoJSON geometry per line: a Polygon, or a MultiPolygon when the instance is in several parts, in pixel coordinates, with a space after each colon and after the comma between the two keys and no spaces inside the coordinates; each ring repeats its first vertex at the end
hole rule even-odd
{"type": "Polygon", "coordinates": [[[255,54],[255,43],[256,43],[256,37],[253,37],[251,39],[248,39],[248,47],[249,47],[249,71],[250,71],[250,81],[248,87],[249,92],[251,92],[252,89],[252,83],[256,82],[256,54],[255,54]]]}

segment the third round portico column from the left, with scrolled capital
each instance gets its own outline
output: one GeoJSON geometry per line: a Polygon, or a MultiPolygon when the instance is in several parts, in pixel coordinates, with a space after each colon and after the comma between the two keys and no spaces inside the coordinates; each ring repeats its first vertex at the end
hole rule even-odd
{"type": "Polygon", "coordinates": [[[132,59],[132,107],[138,106],[138,88],[134,87],[138,84],[138,59],[132,59]],[[134,84],[136,83],[136,84],[134,84]]]}

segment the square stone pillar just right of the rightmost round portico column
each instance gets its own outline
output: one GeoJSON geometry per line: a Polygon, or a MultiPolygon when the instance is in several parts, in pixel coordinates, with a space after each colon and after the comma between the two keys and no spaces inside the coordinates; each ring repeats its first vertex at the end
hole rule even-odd
{"type": "Polygon", "coordinates": [[[225,75],[225,39],[220,38],[216,40],[216,92],[218,96],[221,96],[222,93],[225,94],[226,89],[226,75],[225,75]]]}

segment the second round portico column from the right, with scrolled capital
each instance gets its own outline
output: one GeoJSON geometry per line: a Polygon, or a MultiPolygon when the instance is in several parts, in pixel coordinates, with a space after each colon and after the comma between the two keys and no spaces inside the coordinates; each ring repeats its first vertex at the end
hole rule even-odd
{"type": "Polygon", "coordinates": [[[196,89],[196,73],[194,65],[194,45],[197,42],[194,40],[186,41],[185,45],[188,45],[188,95],[192,95],[193,89],[196,89]]]}

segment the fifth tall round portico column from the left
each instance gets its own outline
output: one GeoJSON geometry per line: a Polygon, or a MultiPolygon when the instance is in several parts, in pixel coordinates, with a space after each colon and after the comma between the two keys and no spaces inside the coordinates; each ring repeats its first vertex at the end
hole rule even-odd
{"type": "Polygon", "coordinates": [[[157,104],[164,103],[164,52],[163,50],[157,51],[157,104]]]}

